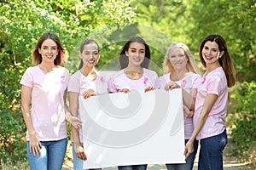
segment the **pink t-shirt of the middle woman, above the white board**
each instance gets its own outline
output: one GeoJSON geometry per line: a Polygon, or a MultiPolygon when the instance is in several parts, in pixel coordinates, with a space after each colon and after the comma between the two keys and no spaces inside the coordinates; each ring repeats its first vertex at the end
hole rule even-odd
{"type": "Polygon", "coordinates": [[[155,87],[158,76],[156,72],[143,68],[143,76],[138,80],[131,80],[126,77],[124,70],[118,71],[108,81],[109,92],[116,93],[120,89],[144,91],[147,87],[155,87]]]}

